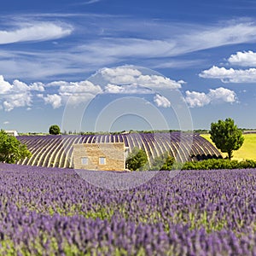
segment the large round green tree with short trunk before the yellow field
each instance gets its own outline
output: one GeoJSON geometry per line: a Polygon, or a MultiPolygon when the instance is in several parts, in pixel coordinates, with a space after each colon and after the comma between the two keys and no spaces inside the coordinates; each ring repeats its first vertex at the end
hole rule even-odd
{"type": "Polygon", "coordinates": [[[228,153],[231,159],[233,151],[241,148],[244,141],[242,132],[237,128],[233,119],[218,120],[211,124],[210,131],[212,142],[221,152],[228,153]]]}

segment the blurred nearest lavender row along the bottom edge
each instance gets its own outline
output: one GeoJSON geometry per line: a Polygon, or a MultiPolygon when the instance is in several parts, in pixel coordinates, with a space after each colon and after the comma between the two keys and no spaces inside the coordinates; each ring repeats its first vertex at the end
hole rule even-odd
{"type": "Polygon", "coordinates": [[[126,219],[49,217],[11,206],[1,210],[8,213],[0,221],[2,255],[255,255],[256,250],[253,230],[237,237],[230,230],[208,234],[181,224],[166,231],[163,224],[126,219]]]}

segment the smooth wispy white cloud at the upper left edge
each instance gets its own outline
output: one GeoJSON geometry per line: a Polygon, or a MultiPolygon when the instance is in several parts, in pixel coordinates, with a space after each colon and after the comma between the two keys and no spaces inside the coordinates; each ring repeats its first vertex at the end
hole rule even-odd
{"type": "Polygon", "coordinates": [[[26,41],[44,41],[66,37],[73,31],[72,26],[63,23],[36,22],[20,24],[12,31],[0,31],[0,44],[26,41]]]}

